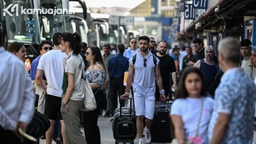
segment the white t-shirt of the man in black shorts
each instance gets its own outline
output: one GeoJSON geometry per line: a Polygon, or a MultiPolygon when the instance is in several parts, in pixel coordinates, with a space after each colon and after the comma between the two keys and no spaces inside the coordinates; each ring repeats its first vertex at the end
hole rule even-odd
{"type": "Polygon", "coordinates": [[[39,60],[37,69],[44,70],[47,80],[46,92],[49,95],[56,97],[62,97],[63,95],[62,83],[66,66],[63,59],[66,57],[66,53],[61,52],[61,50],[51,50],[42,55],[39,60]]]}

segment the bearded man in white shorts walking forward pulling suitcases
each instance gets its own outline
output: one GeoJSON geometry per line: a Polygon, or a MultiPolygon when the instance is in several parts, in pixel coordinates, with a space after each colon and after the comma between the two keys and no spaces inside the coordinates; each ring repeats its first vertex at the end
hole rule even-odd
{"type": "Polygon", "coordinates": [[[155,110],[155,79],[160,90],[161,101],[166,100],[162,87],[159,59],[149,51],[149,41],[149,37],[147,36],[138,38],[140,51],[129,59],[126,91],[124,95],[121,95],[125,100],[128,100],[131,83],[133,82],[139,144],[151,142],[150,127],[154,119],[155,110]],[[133,74],[135,74],[134,81],[133,74]],[[143,129],[144,116],[146,117],[146,126],[143,129]],[[143,139],[143,132],[145,134],[145,140],[143,139]]]}

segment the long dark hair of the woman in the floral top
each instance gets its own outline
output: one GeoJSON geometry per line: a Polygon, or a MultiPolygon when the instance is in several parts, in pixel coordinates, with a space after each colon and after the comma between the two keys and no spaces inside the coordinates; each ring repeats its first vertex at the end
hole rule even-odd
{"type": "Polygon", "coordinates": [[[92,51],[92,55],[94,56],[94,61],[92,63],[93,64],[95,64],[95,63],[101,64],[101,66],[103,67],[103,69],[106,73],[105,81],[109,80],[109,76],[108,76],[108,72],[107,72],[107,66],[104,63],[103,58],[101,56],[101,50],[99,49],[99,47],[97,47],[95,45],[92,45],[88,48],[90,48],[90,50],[92,51]]]}

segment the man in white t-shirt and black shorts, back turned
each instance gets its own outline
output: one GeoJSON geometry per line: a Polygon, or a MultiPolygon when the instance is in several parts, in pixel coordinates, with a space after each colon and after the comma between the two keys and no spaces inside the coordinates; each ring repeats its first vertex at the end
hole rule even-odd
{"type": "MultiPolygon", "coordinates": [[[[58,37],[60,33],[54,33],[53,44],[54,48],[52,51],[44,54],[40,60],[37,67],[36,80],[39,81],[40,86],[44,89],[46,94],[46,116],[51,121],[51,126],[46,132],[46,143],[52,143],[52,136],[54,133],[54,124],[59,115],[61,119],[61,135],[63,140],[65,140],[64,133],[64,122],[61,116],[61,101],[62,101],[62,84],[63,84],[63,71],[65,69],[65,64],[63,59],[66,58],[66,53],[61,52],[59,49],[58,37]],[[46,75],[47,86],[42,79],[43,73],[46,75]]],[[[63,141],[65,143],[65,141],[63,141]]]]}

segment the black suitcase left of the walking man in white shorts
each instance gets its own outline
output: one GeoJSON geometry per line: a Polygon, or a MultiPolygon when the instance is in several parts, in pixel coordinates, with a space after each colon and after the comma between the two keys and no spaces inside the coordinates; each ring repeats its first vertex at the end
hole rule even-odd
{"type": "Polygon", "coordinates": [[[131,102],[130,107],[118,107],[114,111],[112,130],[116,143],[134,143],[137,136],[136,122],[135,110],[131,108],[131,102]]]}

